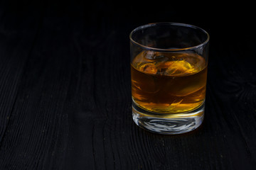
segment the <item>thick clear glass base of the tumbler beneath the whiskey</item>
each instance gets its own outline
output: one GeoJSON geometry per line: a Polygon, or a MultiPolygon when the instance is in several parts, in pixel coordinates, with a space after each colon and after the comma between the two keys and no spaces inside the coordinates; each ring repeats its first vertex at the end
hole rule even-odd
{"type": "Polygon", "coordinates": [[[195,130],[203,123],[205,103],[193,111],[160,114],[146,111],[132,101],[132,118],[144,130],[165,135],[181,134],[195,130]]]}

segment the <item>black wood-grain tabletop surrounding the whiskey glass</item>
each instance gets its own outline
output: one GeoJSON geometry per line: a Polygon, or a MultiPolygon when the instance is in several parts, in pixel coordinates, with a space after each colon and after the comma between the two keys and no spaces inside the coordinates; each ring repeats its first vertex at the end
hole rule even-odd
{"type": "Polygon", "coordinates": [[[1,1],[0,169],[255,169],[254,13],[213,5],[1,1]],[[210,33],[206,117],[183,135],[132,121],[129,33],[161,21],[210,33]]]}

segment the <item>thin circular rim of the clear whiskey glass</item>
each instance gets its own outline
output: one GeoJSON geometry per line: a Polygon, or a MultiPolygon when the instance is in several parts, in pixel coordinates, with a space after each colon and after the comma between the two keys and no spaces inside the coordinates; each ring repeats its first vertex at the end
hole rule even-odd
{"type": "Polygon", "coordinates": [[[206,32],[206,30],[203,30],[203,28],[200,28],[198,26],[193,26],[191,24],[186,24],[186,23],[169,23],[169,22],[161,22],[161,23],[147,23],[147,24],[144,24],[142,26],[139,26],[137,28],[135,28],[134,30],[132,30],[132,32],[129,34],[129,39],[131,40],[131,42],[134,44],[134,45],[138,45],[142,48],[144,48],[145,50],[152,50],[152,51],[166,51],[166,52],[177,52],[177,51],[186,51],[186,50],[193,50],[193,49],[196,49],[198,47],[201,47],[203,45],[206,45],[209,40],[210,40],[210,35],[206,32]],[[202,33],[205,33],[207,35],[207,38],[204,42],[200,43],[199,45],[195,45],[195,46],[191,46],[191,47],[185,47],[185,48],[175,48],[175,49],[168,49],[168,48],[156,48],[156,47],[148,47],[146,45],[142,45],[140,44],[139,42],[135,41],[133,38],[132,38],[132,35],[135,31],[137,30],[141,30],[142,28],[149,28],[151,26],[156,26],[156,25],[172,25],[172,26],[184,26],[184,27],[187,27],[187,28],[194,28],[194,29],[197,29],[197,30],[201,30],[202,33]]]}

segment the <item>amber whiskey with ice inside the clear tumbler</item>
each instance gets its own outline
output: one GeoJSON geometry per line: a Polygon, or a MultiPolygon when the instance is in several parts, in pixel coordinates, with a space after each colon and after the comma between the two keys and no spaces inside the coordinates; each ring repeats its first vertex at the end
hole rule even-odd
{"type": "Polygon", "coordinates": [[[192,52],[142,51],[131,63],[131,76],[134,103],[147,111],[191,111],[206,96],[207,63],[192,52]]]}

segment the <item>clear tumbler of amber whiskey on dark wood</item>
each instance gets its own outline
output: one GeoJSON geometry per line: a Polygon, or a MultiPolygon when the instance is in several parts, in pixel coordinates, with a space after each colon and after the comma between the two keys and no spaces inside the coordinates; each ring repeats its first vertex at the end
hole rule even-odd
{"type": "Polygon", "coordinates": [[[198,128],[206,98],[208,33],[183,23],[151,23],[129,38],[134,122],[161,134],[198,128]]]}

